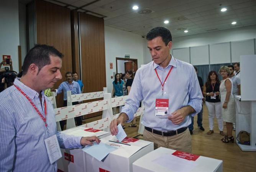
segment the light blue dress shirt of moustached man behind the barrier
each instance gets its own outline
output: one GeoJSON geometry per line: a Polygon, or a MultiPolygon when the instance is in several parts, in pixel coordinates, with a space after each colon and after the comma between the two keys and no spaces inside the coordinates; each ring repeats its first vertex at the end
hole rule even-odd
{"type": "Polygon", "coordinates": [[[71,84],[67,81],[62,82],[56,91],[56,95],[62,91],[64,92],[63,100],[67,100],[67,91],[71,91],[71,94],[81,94],[79,83],[75,81],[72,81],[71,84]]]}

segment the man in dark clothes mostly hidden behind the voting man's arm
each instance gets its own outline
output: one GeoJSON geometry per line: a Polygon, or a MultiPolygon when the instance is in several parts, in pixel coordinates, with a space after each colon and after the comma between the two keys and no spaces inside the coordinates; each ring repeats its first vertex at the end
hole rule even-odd
{"type": "MultiPolygon", "coordinates": [[[[195,72],[197,73],[197,67],[194,66],[194,68],[195,68],[195,72]]],[[[200,85],[201,91],[203,91],[203,80],[198,75],[197,75],[197,79],[199,81],[199,85],[200,85]]],[[[191,118],[191,124],[189,125],[189,132],[190,132],[190,135],[192,135],[193,134],[193,130],[194,130],[194,117],[190,116],[190,118],[191,118]]],[[[202,122],[203,122],[203,104],[202,104],[201,111],[197,114],[197,125],[198,125],[200,130],[204,131],[202,122]]]]}

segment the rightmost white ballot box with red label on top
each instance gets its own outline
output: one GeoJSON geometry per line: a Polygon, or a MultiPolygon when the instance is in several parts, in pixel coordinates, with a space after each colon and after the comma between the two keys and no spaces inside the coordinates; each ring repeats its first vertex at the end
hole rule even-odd
{"type": "Polygon", "coordinates": [[[222,172],[222,161],[160,147],[133,162],[133,172],[222,172]]]}

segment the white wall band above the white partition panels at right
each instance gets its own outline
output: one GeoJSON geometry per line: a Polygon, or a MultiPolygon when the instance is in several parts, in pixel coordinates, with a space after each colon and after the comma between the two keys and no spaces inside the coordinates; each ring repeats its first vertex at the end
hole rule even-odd
{"type": "Polygon", "coordinates": [[[174,37],[172,49],[256,38],[256,25],[191,36],[174,37]]]}

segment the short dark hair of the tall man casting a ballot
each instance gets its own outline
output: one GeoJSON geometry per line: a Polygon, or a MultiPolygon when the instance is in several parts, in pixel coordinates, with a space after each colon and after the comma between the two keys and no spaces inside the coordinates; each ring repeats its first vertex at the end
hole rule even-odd
{"type": "Polygon", "coordinates": [[[170,41],[172,41],[172,34],[171,32],[167,29],[167,28],[164,28],[164,27],[156,27],[156,28],[153,28],[151,29],[147,36],[146,36],[146,39],[148,41],[151,41],[152,39],[158,37],[158,36],[161,36],[162,37],[162,41],[164,42],[164,44],[167,46],[168,43],[170,41]]]}

